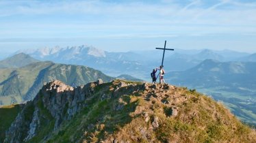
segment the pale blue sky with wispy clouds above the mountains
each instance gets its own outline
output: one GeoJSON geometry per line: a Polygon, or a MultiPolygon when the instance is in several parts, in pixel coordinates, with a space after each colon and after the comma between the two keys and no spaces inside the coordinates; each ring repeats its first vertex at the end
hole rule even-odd
{"type": "Polygon", "coordinates": [[[256,52],[256,1],[0,1],[1,52],[79,46],[256,52]]]}

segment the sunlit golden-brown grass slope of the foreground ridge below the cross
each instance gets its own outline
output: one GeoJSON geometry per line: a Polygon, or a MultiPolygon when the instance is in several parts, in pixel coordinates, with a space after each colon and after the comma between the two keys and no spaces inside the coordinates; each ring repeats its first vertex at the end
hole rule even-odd
{"type": "Polygon", "coordinates": [[[196,91],[179,88],[175,93],[188,98],[177,105],[177,116],[168,117],[164,110],[168,106],[159,100],[153,100],[154,104],[151,104],[138,97],[137,107],[143,107],[144,111],[112,137],[131,142],[255,142],[255,131],[243,125],[222,104],[196,91]],[[151,122],[145,122],[144,112],[151,113],[151,122]],[[159,127],[152,131],[155,116],[159,118],[159,127]],[[142,131],[146,132],[146,137],[142,131]]]}

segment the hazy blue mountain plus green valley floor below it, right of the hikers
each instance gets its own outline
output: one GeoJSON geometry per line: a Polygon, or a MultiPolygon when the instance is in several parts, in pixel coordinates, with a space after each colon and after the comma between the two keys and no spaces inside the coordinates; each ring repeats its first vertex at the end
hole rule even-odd
{"type": "Polygon", "coordinates": [[[256,124],[256,62],[207,59],[185,71],[169,72],[165,79],[211,95],[246,123],[256,124]]]}

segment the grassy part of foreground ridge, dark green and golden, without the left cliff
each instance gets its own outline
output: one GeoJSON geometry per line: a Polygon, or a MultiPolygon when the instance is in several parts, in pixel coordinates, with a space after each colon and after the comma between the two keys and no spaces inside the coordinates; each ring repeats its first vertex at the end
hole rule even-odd
{"type": "MultiPolygon", "coordinates": [[[[51,133],[48,142],[256,141],[255,131],[243,125],[222,104],[195,90],[144,91],[138,90],[142,85],[136,83],[135,87],[123,87],[114,94],[118,83],[117,80],[95,87],[94,95],[85,101],[86,108],[71,121],[64,121],[60,129],[51,133]],[[172,107],[178,109],[177,116],[172,116],[172,107]],[[145,114],[149,121],[145,121],[145,114]],[[156,128],[155,118],[159,124],[156,128]]],[[[42,140],[36,138],[32,140],[42,140]]]]}

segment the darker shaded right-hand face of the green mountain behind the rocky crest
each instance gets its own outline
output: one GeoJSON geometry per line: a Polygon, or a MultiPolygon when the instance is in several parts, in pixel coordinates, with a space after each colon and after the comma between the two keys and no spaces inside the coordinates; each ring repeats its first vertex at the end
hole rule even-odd
{"type": "Polygon", "coordinates": [[[27,91],[23,99],[30,100],[31,97],[34,98],[45,82],[60,80],[71,86],[79,86],[93,82],[99,78],[104,82],[114,79],[90,67],[55,63],[40,71],[36,80],[34,80],[33,86],[27,91]]]}

